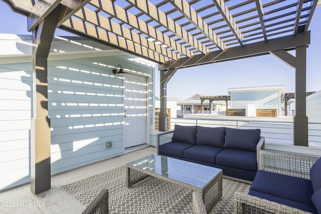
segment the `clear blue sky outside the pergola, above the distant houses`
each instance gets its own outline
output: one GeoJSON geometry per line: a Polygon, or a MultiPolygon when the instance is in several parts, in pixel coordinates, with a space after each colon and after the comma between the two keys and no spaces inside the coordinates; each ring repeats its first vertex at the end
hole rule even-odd
{"type": "MultiPolygon", "coordinates": [[[[16,14],[0,1],[0,19],[5,20],[0,33],[29,34],[27,18],[16,14]]],[[[311,42],[307,49],[306,90],[321,90],[321,7],[316,8],[309,26],[311,42]]],[[[57,29],[56,35],[70,35],[57,29]]],[[[167,86],[168,97],[185,100],[196,93],[204,96],[228,95],[228,88],[285,85],[294,92],[295,71],[272,55],[179,69],[167,86]]],[[[156,72],[155,94],[159,95],[159,73],[156,72]]]]}

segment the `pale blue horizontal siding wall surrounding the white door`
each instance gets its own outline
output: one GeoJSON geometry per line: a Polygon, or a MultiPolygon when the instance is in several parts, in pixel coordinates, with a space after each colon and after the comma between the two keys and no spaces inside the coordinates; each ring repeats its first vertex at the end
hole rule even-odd
{"type": "MultiPolygon", "coordinates": [[[[125,72],[147,78],[147,128],[152,126],[153,68],[130,57],[48,62],[52,174],[124,151],[123,76],[104,65],[121,64],[125,72]],[[111,148],[106,141],[112,141],[111,148]]],[[[0,190],[30,181],[32,94],[31,62],[0,63],[0,190]]]]}

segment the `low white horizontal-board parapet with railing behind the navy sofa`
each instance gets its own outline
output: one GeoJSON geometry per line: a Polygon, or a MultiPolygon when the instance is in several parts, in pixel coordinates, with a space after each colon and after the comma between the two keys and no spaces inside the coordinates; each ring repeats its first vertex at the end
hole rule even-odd
{"type": "MultiPolygon", "coordinates": [[[[261,136],[265,137],[266,143],[293,145],[293,122],[289,122],[288,120],[171,118],[171,130],[174,130],[175,124],[206,127],[224,126],[239,129],[258,128],[261,130],[261,136]]],[[[308,141],[309,146],[321,147],[321,123],[308,123],[308,141]]]]}

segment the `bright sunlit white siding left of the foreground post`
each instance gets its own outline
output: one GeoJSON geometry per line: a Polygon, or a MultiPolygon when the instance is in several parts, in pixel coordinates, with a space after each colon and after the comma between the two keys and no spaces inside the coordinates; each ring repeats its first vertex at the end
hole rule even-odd
{"type": "Polygon", "coordinates": [[[32,66],[0,65],[0,190],[30,181],[32,66]]]}

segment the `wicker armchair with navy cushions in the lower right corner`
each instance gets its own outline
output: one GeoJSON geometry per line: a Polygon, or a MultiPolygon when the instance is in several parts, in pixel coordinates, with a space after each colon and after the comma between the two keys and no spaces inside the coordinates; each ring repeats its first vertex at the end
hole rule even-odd
{"type": "Polygon", "coordinates": [[[234,195],[235,213],[321,213],[321,158],[261,150],[248,193],[234,195]]]}

